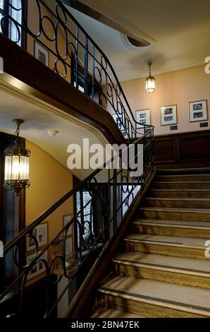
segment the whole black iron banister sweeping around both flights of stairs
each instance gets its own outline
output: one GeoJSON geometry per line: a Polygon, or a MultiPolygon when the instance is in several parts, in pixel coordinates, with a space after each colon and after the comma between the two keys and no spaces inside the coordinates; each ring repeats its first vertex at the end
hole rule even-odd
{"type": "MultiPolygon", "coordinates": [[[[11,6],[8,0],[6,0],[6,2],[8,6],[11,6]]],[[[14,11],[23,11],[24,1],[21,0],[20,2],[22,7],[13,8],[14,11]]],[[[111,158],[109,161],[111,170],[106,169],[106,174],[104,174],[106,179],[104,179],[104,182],[99,183],[97,181],[97,175],[104,169],[100,168],[94,170],[94,172],[92,172],[92,174],[80,182],[80,184],[68,191],[68,193],[63,195],[60,199],[58,199],[58,201],[56,201],[56,203],[44,211],[44,213],[39,215],[39,217],[36,218],[30,225],[25,227],[25,229],[16,235],[16,237],[5,244],[4,259],[7,258],[8,254],[13,257],[13,264],[14,266],[17,266],[18,276],[12,280],[11,285],[6,287],[6,290],[4,290],[4,292],[0,295],[0,306],[6,299],[6,295],[8,295],[11,290],[15,290],[19,299],[19,309],[13,308],[14,312],[12,315],[15,314],[16,316],[24,316],[24,305],[27,305],[27,303],[25,303],[25,290],[27,288],[28,276],[31,273],[32,268],[37,266],[38,263],[43,263],[45,268],[45,277],[47,280],[50,280],[51,275],[54,274],[54,263],[58,262],[60,272],[58,273],[59,276],[57,283],[59,283],[63,276],[65,276],[68,279],[68,285],[65,288],[65,290],[67,290],[68,287],[70,287],[73,278],[77,278],[78,273],[80,272],[80,268],[84,264],[82,248],[88,248],[86,259],[92,257],[92,254],[95,252],[97,252],[97,259],[100,259],[100,254],[109,248],[111,240],[113,239],[114,235],[117,234],[118,227],[123,225],[126,211],[129,211],[132,202],[135,200],[135,196],[144,190],[145,185],[149,181],[149,177],[151,177],[154,170],[154,126],[140,124],[135,120],[128,100],[126,99],[121,87],[121,83],[118,81],[116,73],[113,70],[109,59],[107,59],[106,54],[104,54],[104,52],[95,44],[94,40],[92,40],[92,37],[90,37],[87,32],[85,32],[78,21],[75,20],[71,13],[68,12],[67,8],[63,6],[61,1],[52,0],[50,1],[50,4],[46,4],[46,2],[43,0],[30,0],[28,2],[28,4],[32,3],[37,4],[37,11],[39,16],[37,34],[31,30],[30,22],[27,21],[27,17],[24,13],[23,20],[20,22],[11,17],[10,11],[6,12],[4,8],[0,9],[0,23],[2,32],[6,35],[6,30],[4,30],[5,22],[7,22],[7,20],[8,22],[12,20],[13,23],[15,22],[15,28],[18,32],[18,40],[15,41],[16,44],[20,45],[21,35],[23,32],[25,32],[27,36],[32,37],[33,40],[36,40],[40,45],[45,47],[49,51],[51,57],[54,57],[53,70],[58,76],[68,80],[68,71],[73,71],[73,73],[75,73],[75,88],[79,88],[78,76],[82,77],[82,80],[84,81],[85,93],[89,95],[90,98],[94,99],[97,91],[97,95],[99,97],[98,103],[101,105],[103,100],[105,100],[105,103],[102,106],[105,108],[108,106],[111,107],[112,112],[117,114],[120,119],[120,129],[125,131],[126,138],[128,138],[128,143],[133,142],[135,147],[138,144],[142,144],[143,155],[145,158],[143,172],[136,177],[130,176],[130,169],[129,167],[126,168],[123,165],[123,162],[120,162],[120,165],[118,165],[118,170],[113,170],[113,174],[111,174],[111,170],[115,168],[113,167],[115,158],[118,158],[119,156],[111,158]],[[45,8],[44,13],[42,12],[43,8],[45,8]],[[61,13],[64,17],[63,20],[61,19],[61,13]],[[44,29],[44,18],[48,18],[49,22],[51,23],[51,27],[54,31],[53,37],[49,37],[47,31],[44,29]],[[66,37],[66,40],[64,41],[64,44],[66,45],[66,54],[64,57],[61,56],[59,45],[57,45],[57,30],[59,25],[61,25],[64,31],[64,37],[66,37]],[[84,42],[82,42],[81,34],[82,37],[85,38],[84,42]],[[45,43],[41,38],[43,35],[47,39],[47,42],[45,43]],[[68,47],[70,47],[71,50],[69,50],[68,47]],[[82,48],[82,52],[84,52],[85,61],[82,73],[78,69],[80,65],[79,58],[81,56],[80,48],[82,48]],[[71,61],[73,57],[75,57],[75,64],[73,64],[73,61],[71,61]],[[58,71],[58,61],[61,61],[61,64],[63,64],[64,75],[58,71]],[[89,64],[92,64],[91,83],[89,82],[88,78],[89,64]],[[91,93],[89,93],[89,88],[91,88],[91,93]],[[137,125],[141,126],[142,129],[137,130],[137,125]],[[94,183],[92,183],[92,181],[94,183]],[[118,194],[118,189],[120,194],[118,194]],[[42,221],[51,215],[51,213],[54,213],[54,211],[62,206],[62,204],[66,202],[68,198],[77,194],[78,192],[83,191],[86,191],[89,194],[89,198],[86,203],[84,203],[83,206],[80,206],[77,213],[73,216],[73,219],[70,220],[67,225],[63,226],[61,230],[59,230],[56,236],[50,240],[44,249],[42,247],[40,248],[36,237],[32,233],[35,227],[37,227],[37,225],[42,223],[42,221]],[[92,220],[92,210],[95,207],[96,202],[97,213],[99,213],[99,217],[97,216],[97,220],[92,220]],[[82,218],[82,215],[84,216],[85,211],[87,212],[87,210],[89,211],[88,220],[86,220],[86,218],[82,218]],[[94,223],[97,223],[97,230],[92,230],[94,223]],[[78,237],[76,239],[73,257],[69,259],[66,253],[66,242],[68,230],[70,227],[75,228],[75,232],[77,233],[78,237]],[[25,264],[25,261],[23,262],[21,259],[19,261],[19,249],[24,247],[24,243],[27,240],[27,237],[32,237],[32,239],[35,241],[35,244],[32,249],[34,251],[34,257],[32,261],[25,264]],[[62,253],[57,254],[51,260],[44,259],[43,254],[51,249],[54,244],[56,244],[58,239],[60,239],[62,242],[62,253]]],[[[7,35],[7,37],[11,36],[7,35]]],[[[74,82],[72,81],[71,84],[73,83],[74,82]]],[[[127,149],[128,148],[129,146],[127,149]]],[[[136,150],[137,149],[135,149],[134,155],[132,155],[133,160],[139,157],[136,150]]],[[[121,151],[121,154],[122,153],[123,152],[121,151]]],[[[104,164],[104,168],[106,168],[106,165],[107,162],[104,164]]],[[[89,270],[87,269],[86,273],[88,272],[89,270]]],[[[54,302],[52,307],[50,307],[49,293],[46,292],[45,297],[43,294],[42,300],[46,302],[46,310],[43,314],[44,317],[51,316],[51,312],[61,300],[63,295],[64,292],[62,292],[61,296],[58,297],[56,302],[54,302]]],[[[8,312],[8,315],[11,315],[11,312],[8,312]]]]}

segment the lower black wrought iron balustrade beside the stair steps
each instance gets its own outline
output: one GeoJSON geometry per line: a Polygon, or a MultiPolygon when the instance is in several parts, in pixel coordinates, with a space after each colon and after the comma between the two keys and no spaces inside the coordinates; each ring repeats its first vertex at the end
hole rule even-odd
{"type": "MultiPolygon", "coordinates": [[[[142,153],[144,155],[144,167],[142,175],[137,177],[130,177],[130,169],[125,169],[122,159],[120,158],[118,169],[114,169],[113,163],[116,158],[112,158],[109,162],[110,167],[95,170],[87,179],[70,190],[65,196],[59,199],[51,208],[42,213],[33,223],[27,226],[16,237],[14,237],[8,244],[4,246],[4,263],[8,257],[13,254],[14,263],[18,268],[18,275],[14,278],[11,285],[7,285],[4,292],[0,295],[0,308],[8,296],[16,296],[18,307],[16,309],[8,310],[7,316],[24,316],[25,309],[28,306],[27,302],[27,287],[30,276],[36,268],[42,264],[44,266],[44,278],[47,280],[46,292],[42,294],[42,299],[39,299],[45,304],[44,317],[50,317],[56,309],[58,303],[66,294],[73,282],[80,277],[82,268],[89,259],[96,261],[99,256],[106,252],[111,239],[118,232],[118,227],[123,223],[129,208],[135,201],[135,197],[139,194],[144,185],[147,183],[150,175],[153,172],[154,150],[153,150],[154,133],[150,129],[147,134],[138,138],[135,141],[135,146],[142,144],[142,153]],[[103,178],[103,181],[101,179],[103,178]],[[67,202],[74,194],[86,191],[88,193],[85,203],[78,209],[73,219],[70,220],[44,247],[39,247],[37,237],[33,230],[46,220],[51,213],[54,213],[63,203],[67,202]],[[96,208],[97,207],[97,208],[96,208]],[[91,213],[93,215],[94,228],[90,230],[91,225],[87,226],[87,220],[81,218],[82,214],[91,213]],[[89,239],[87,240],[89,227],[89,239]],[[74,229],[77,233],[78,243],[75,245],[74,251],[69,255],[67,249],[68,232],[74,229]],[[86,229],[85,229],[86,228],[86,229]],[[28,239],[33,240],[33,257],[30,261],[26,261],[23,256],[23,248],[27,245],[28,239]],[[58,252],[53,257],[47,259],[47,253],[60,243],[62,245],[61,252],[58,252]],[[84,255],[84,249],[88,249],[84,255]],[[22,253],[22,254],[21,254],[22,253]],[[55,272],[56,271],[56,272],[55,272]],[[56,284],[61,283],[63,277],[66,277],[68,283],[63,288],[61,295],[58,296],[53,304],[49,302],[49,289],[52,283],[51,276],[58,275],[56,284]]],[[[132,156],[137,159],[140,154],[139,150],[135,149],[132,156]]],[[[105,165],[104,165],[105,167],[105,165]]],[[[107,164],[106,164],[107,167],[107,164]]],[[[52,227],[53,225],[50,225],[52,227]]],[[[89,273],[91,266],[85,266],[85,275],[89,273]]],[[[77,291],[78,289],[76,289],[77,291]]]]}

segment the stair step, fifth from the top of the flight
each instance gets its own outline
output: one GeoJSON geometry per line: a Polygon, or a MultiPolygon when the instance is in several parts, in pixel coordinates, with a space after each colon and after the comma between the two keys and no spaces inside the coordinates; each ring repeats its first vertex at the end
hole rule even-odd
{"type": "Polygon", "coordinates": [[[153,206],[157,208],[209,208],[210,198],[144,198],[145,206],[153,206]]]}

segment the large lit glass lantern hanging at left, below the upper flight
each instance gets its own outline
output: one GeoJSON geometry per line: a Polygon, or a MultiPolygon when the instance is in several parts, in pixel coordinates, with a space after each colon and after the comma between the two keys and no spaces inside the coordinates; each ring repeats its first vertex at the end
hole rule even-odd
{"type": "Polygon", "coordinates": [[[5,170],[4,170],[4,188],[12,189],[17,196],[21,189],[30,186],[29,181],[29,157],[30,150],[20,147],[20,124],[24,120],[14,119],[17,129],[14,135],[17,136],[15,145],[12,148],[7,148],[4,151],[5,155],[5,170]]]}

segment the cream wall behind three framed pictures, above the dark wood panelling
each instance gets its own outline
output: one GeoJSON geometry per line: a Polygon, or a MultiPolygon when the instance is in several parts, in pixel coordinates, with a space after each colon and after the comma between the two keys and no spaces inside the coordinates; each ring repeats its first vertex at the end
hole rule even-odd
{"type": "Polygon", "coordinates": [[[121,84],[134,114],[138,109],[151,109],[151,120],[156,135],[209,129],[209,127],[200,129],[199,122],[190,123],[188,109],[188,103],[197,100],[207,100],[210,109],[210,75],[204,72],[204,66],[163,73],[155,78],[154,93],[147,93],[144,78],[121,84]],[[161,126],[160,107],[173,104],[178,107],[176,131],[170,131],[170,126],[161,126]]]}

